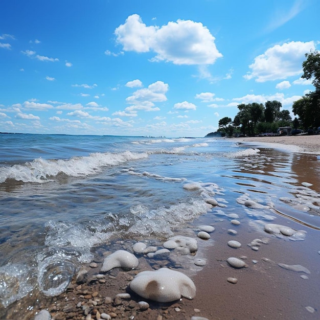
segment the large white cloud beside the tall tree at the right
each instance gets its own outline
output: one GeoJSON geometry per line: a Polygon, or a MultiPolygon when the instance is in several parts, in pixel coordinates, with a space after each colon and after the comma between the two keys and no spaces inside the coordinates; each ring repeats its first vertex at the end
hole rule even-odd
{"type": "Polygon", "coordinates": [[[277,44],[255,58],[254,63],[249,65],[252,72],[248,72],[244,78],[255,78],[257,82],[265,82],[299,75],[302,73],[305,54],[314,49],[314,41],[277,44]]]}

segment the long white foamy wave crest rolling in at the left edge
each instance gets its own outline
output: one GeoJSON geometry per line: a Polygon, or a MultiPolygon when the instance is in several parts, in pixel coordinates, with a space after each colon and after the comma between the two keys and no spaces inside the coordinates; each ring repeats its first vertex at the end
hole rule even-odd
{"type": "Polygon", "coordinates": [[[101,172],[104,167],[117,166],[128,161],[147,158],[147,153],[125,151],[121,153],[92,153],[70,159],[36,158],[32,162],[0,169],[0,183],[8,179],[43,183],[52,181],[58,174],[71,177],[87,176],[101,172]]]}

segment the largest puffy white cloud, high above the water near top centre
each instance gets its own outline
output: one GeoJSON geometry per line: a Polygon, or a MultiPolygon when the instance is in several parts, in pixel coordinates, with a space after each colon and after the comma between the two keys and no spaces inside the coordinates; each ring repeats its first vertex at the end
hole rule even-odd
{"type": "Polygon", "coordinates": [[[213,64],[222,57],[209,29],[192,20],[171,21],[161,28],[147,27],[138,14],[133,14],[115,30],[115,34],[124,51],[154,52],[156,56],[151,61],[213,64]]]}

